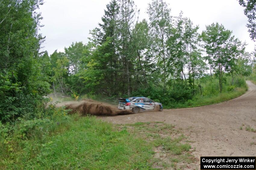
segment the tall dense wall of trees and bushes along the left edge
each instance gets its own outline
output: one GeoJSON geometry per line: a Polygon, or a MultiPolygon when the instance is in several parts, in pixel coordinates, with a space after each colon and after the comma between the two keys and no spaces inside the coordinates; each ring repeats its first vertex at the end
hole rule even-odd
{"type": "Polygon", "coordinates": [[[39,5],[41,0],[0,2],[0,121],[33,118],[50,92],[39,63],[39,5]]]}

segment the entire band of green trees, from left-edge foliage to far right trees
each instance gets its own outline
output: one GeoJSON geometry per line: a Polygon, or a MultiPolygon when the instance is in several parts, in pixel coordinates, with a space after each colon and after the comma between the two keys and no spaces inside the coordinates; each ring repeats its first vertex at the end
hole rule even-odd
{"type": "Polygon", "coordinates": [[[220,93],[242,86],[239,77],[251,74],[251,54],[230,30],[213,23],[199,33],[163,0],[148,4],[149,20],[139,20],[132,0],[112,0],[88,43],[49,56],[39,52],[42,4],[0,2],[0,121],[43,117],[49,93],[139,95],[169,104],[213,94],[208,86],[220,93]]]}

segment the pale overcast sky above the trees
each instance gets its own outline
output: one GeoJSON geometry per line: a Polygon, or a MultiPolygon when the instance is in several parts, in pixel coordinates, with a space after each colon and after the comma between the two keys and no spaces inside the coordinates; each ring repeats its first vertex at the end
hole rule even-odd
{"type": "MultiPolygon", "coordinates": [[[[40,33],[46,36],[43,50],[52,54],[55,50],[64,52],[64,47],[72,42],[88,42],[89,30],[101,22],[106,4],[110,0],[45,0],[41,6],[43,20],[40,33]]],[[[148,19],[146,8],[151,0],[134,0],[140,9],[139,18],[148,19]]],[[[205,25],[222,23],[233,35],[248,45],[246,51],[253,51],[253,42],[245,26],[247,17],[237,0],[166,0],[171,8],[171,15],[178,16],[183,11],[183,17],[189,17],[199,25],[199,32],[205,25]]]]}

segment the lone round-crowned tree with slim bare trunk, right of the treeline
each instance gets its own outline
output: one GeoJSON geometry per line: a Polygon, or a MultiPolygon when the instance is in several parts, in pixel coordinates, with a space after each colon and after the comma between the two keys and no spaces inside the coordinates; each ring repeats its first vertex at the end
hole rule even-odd
{"type": "Polygon", "coordinates": [[[244,51],[245,46],[231,34],[232,31],[225,29],[223,25],[218,23],[206,26],[206,30],[202,32],[204,48],[210,56],[207,59],[219,77],[220,93],[222,92],[224,73],[230,71],[237,57],[244,51]]]}

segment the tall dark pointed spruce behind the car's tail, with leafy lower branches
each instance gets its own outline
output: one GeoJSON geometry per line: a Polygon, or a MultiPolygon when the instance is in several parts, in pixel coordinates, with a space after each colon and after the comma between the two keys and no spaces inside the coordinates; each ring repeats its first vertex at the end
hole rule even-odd
{"type": "MultiPolygon", "coordinates": [[[[99,23],[99,28],[90,32],[92,39],[86,45],[87,49],[84,50],[83,60],[86,61],[84,67],[87,70],[81,70],[81,74],[79,74],[82,79],[86,79],[84,82],[94,84],[98,87],[99,92],[110,96],[117,95],[119,91],[120,61],[117,54],[119,10],[120,6],[116,0],[112,0],[106,5],[104,16],[101,17],[102,23],[99,23]],[[91,77],[93,75],[104,79],[98,79],[101,80],[99,82],[91,77]],[[91,78],[89,79],[89,77],[91,78]]],[[[86,88],[96,90],[89,84],[86,85],[86,88]]]]}

